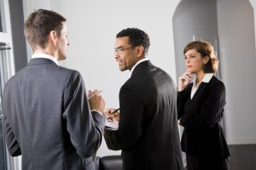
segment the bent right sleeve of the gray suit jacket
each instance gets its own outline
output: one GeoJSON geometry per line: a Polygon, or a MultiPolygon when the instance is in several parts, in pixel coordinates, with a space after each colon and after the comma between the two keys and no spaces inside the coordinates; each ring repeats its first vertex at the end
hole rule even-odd
{"type": "Polygon", "coordinates": [[[83,78],[73,72],[68,78],[64,90],[64,113],[67,131],[79,156],[89,157],[102,142],[102,129],[105,117],[90,112],[83,78]]]}

